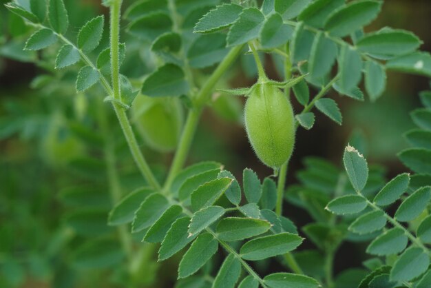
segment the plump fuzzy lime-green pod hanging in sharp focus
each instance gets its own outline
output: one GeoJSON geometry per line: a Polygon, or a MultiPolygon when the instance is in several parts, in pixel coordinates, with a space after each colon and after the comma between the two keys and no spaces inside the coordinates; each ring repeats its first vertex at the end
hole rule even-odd
{"type": "Polygon", "coordinates": [[[286,95],[274,85],[258,83],[244,114],[247,136],[260,161],[273,168],[286,163],[295,143],[293,110],[286,95]]]}

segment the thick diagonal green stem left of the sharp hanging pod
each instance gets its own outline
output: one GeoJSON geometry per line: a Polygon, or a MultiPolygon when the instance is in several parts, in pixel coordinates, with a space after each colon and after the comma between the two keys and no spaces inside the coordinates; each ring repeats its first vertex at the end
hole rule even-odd
{"type": "Polygon", "coordinates": [[[180,169],[186,161],[187,154],[189,154],[191,141],[193,141],[193,135],[196,131],[196,127],[198,126],[200,114],[202,114],[203,107],[209,100],[215,84],[223,76],[224,72],[226,72],[226,70],[231,66],[233,61],[235,61],[243,47],[243,45],[239,45],[231,49],[223,61],[214,70],[213,74],[211,74],[207,82],[204,83],[200,92],[196,96],[196,99],[194,99],[194,107],[192,110],[190,110],[189,115],[187,116],[185,127],[182,130],[180,143],[165,182],[165,187],[163,189],[164,192],[169,191],[172,181],[174,181],[175,176],[178,174],[178,172],[180,172],[180,169]]]}

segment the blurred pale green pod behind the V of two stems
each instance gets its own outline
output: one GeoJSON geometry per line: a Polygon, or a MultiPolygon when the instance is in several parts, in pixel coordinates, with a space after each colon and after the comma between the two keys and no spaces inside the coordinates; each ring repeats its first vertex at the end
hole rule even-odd
{"type": "Polygon", "coordinates": [[[180,99],[138,95],[132,105],[132,118],[151,149],[170,152],[176,148],[184,119],[180,99]]]}

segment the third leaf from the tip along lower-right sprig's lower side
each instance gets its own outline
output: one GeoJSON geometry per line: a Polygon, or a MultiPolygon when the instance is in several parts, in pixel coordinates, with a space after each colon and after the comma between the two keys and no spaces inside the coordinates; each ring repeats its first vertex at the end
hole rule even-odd
{"type": "Polygon", "coordinates": [[[408,238],[403,229],[392,228],[372,240],[367,247],[367,253],[384,256],[398,254],[407,246],[408,238]]]}

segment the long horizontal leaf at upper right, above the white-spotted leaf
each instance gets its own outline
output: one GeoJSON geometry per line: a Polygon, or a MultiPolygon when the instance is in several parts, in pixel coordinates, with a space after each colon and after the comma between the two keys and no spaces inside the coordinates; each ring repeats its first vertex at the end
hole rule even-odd
{"type": "Polygon", "coordinates": [[[359,51],[369,54],[401,55],[414,52],[422,41],[412,32],[383,28],[357,41],[359,51]]]}

